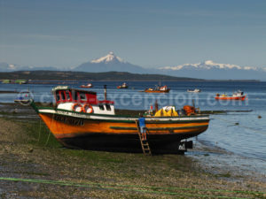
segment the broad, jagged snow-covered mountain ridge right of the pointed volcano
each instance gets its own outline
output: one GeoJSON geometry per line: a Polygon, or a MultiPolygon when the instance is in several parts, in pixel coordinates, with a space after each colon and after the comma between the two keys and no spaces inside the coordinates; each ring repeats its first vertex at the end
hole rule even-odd
{"type": "Polygon", "coordinates": [[[239,70],[258,70],[257,67],[253,66],[239,66],[239,65],[231,65],[231,64],[218,64],[212,60],[206,60],[204,62],[200,62],[197,64],[184,64],[184,65],[176,65],[176,66],[165,66],[161,67],[161,70],[173,70],[178,71],[181,69],[203,69],[203,70],[210,70],[210,69],[239,69],[239,70]]]}

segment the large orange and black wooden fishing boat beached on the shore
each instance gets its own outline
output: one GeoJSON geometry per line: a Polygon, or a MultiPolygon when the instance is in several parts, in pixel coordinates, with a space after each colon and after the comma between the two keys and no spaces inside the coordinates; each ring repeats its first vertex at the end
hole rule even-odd
{"type": "MultiPolygon", "coordinates": [[[[92,91],[68,87],[52,89],[55,107],[31,106],[55,138],[68,148],[141,151],[136,120],[117,115],[113,101],[98,101],[92,91]]],[[[183,139],[207,130],[208,115],[149,116],[145,118],[147,139],[153,151],[176,149],[183,139]]]]}

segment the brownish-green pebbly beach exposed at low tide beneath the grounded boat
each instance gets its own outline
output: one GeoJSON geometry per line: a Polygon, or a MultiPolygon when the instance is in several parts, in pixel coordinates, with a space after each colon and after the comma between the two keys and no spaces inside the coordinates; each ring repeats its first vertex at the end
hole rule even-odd
{"type": "MultiPolygon", "coordinates": [[[[259,176],[241,175],[237,166],[212,168],[192,155],[65,149],[34,111],[16,109],[1,111],[0,198],[266,198],[259,176]],[[33,118],[11,117],[20,110],[33,118]]],[[[197,151],[206,161],[208,153],[223,153],[203,145],[188,154],[197,151]]]]}

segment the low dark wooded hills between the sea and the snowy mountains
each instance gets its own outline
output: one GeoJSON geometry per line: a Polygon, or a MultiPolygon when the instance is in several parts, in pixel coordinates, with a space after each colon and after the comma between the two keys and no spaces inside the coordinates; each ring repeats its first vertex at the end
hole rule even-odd
{"type": "Polygon", "coordinates": [[[18,71],[1,72],[0,80],[36,81],[199,81],[199,82],[261,82],[261,80],[204,80],[188,77],[175,77],[164,74],[140,74],[127,72],[83,73],[71,71],[18,71]]]}

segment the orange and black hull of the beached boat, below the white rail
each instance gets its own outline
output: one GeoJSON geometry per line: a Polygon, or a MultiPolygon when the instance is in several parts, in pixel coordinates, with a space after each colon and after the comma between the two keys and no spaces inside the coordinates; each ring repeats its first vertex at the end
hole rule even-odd
{"type": "MultiPolygon", "coordinates": [[[[135,120],[82,119],[41,112],[39,116],[56,139],[68,148],[141,151],[135,120]]],[[[208,122],[209,119],[146,121],[147,139],[153,151],[172,145],[177,147],[181,140],[206,131],[208,122]]]]}

